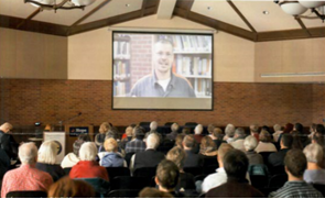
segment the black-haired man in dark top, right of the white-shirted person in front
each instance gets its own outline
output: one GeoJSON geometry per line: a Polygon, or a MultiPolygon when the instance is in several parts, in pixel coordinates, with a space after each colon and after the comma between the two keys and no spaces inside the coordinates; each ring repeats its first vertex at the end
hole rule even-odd
{"type": "Polygon", "coordinates": [[[249,162],[243,152],[234,150],[224,157],[227,183],[209,190],[206,198],[264,198],[246,179],[249,162]]]}

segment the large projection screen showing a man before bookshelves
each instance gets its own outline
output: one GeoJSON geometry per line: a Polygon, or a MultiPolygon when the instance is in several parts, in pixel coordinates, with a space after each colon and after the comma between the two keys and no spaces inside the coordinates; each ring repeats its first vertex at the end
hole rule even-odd
{"type": "Polygon", "coordinates": [[[213,110],[214,35],[112,32],[113,110],[213,110]]]}

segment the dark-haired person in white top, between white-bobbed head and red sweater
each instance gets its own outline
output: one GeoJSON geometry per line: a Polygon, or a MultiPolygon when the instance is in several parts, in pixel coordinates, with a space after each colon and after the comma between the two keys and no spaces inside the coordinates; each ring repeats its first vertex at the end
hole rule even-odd
{"type": "Polygon", "coordinates": [[[88,134],[86,133],[82,133],[78,136],[78,140],[75,141],[73,147],[74,147],[74,152],[67,154],[64,158],[63,162],[61,163],[61,167],[62,168],[72,168],[73,166],[75,166],[77,163],[79,163],[80,158],[79,158],[79,151],[82,145],[85,142],[90,142],[91,139],[88,134]]]}

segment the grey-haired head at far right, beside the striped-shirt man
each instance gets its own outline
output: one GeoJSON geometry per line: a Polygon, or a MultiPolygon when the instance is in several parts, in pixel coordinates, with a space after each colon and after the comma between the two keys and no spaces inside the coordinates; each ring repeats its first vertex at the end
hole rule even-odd
{"type": "Polygon", "coordinates": [[[319,144],[310,144],[305,147],[304,154],[308,163],[315,163],[318,166],[324,161],[324,150],[319,144]]]}

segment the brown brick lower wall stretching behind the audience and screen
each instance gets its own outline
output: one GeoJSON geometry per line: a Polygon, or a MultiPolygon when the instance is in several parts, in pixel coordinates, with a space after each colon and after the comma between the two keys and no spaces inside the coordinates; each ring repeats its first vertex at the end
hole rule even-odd
{"type": "Polygon", "coordinates": [[[2,79],[0,93],[1,122],[14,125],[56,124],[78,112],[83,115],[71,123],[128,125],[156,120],[181,125],[192,121],[204,125],[310,125],[325,118],[324,85],[215,82],[214,111],[112,111],[111,81],[2,79]]]}

